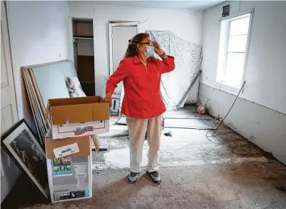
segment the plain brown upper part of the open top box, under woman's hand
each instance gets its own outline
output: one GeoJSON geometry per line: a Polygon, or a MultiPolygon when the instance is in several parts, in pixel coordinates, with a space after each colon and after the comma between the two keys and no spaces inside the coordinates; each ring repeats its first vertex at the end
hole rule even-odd
{"type": "Polygon", "coordinates": [[[109,120],[109,103],[101,103],[101,99],[101,96],[50,99],[45,118],[51,115],[53,125],[109,120]]]}

